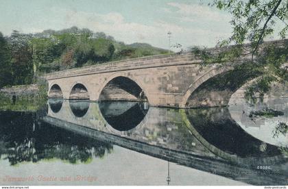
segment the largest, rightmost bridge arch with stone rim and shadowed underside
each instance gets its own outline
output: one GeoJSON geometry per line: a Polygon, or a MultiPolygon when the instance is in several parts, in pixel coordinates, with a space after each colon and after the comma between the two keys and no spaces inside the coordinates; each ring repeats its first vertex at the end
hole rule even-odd
{"type": "Polygon", "coordinates": [[[181,105],[184,108],[226,106],[241,86],[260,74],[232,66],[215,68],[191,85],[181,105]]]}

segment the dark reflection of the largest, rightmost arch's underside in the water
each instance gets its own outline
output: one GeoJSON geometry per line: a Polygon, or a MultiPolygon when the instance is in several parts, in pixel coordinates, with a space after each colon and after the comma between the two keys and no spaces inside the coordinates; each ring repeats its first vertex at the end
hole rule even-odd
{"type": "Polygon", "coordinates": [[[187,118],[209,144],[238,157],[280,155],[278,147],[254,138],[232,119],[228,108],[191,109],[187,118]]]}

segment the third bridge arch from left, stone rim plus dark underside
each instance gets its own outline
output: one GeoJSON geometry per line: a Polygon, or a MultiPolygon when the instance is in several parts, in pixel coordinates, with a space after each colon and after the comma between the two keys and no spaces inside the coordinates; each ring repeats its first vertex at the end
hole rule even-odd
{"type": "MultiPolygon", "coordinates": [[[[133,95],[135,97],[135,101],[139,101],[139,99],[141,99],[143,101],[149,102],[149,93],[147,92],[147,89],[142,84],[142,82],[139,81],[139,79],[136,79],[135,77],[130,75],[129,73],[123,72],[115,73],[110,77],[106,78],[106,80],[99,87],[99,91],[97,92],[98,101],[105,100],[105,90],[109,90],[109,88],[110,90],[112,90],[113,85],[120,87],[121,89],[130,93],[130,95],[133,95]],[[125,86],[126,82],[128,83],[127,86],[125,86]]],[[[133,101],[133,99],[131,100],[133,101]]]]}

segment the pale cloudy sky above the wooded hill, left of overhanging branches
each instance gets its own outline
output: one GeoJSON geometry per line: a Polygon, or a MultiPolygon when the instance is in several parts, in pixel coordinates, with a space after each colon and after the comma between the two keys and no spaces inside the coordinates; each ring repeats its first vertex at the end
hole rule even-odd
{"type": "Polygon", "coordinates": [[[23,33],[72,26],[103,31],[126,44],[214,47],[231,34],[230,14],[207,0],[0,0],[0,31],[23,33]]]}

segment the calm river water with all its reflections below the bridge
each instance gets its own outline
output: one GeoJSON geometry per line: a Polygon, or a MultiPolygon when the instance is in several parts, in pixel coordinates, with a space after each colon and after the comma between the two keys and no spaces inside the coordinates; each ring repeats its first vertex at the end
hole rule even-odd
{"type": "Polygon", "coordinates": [[[178,110],[50,99],[0,112],[0,185],[284,185],[288,99],[178,110]],[[274,108],[274,118],[249,118],[274,108]]]}

